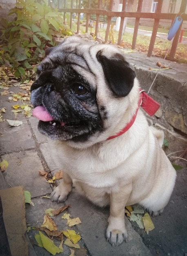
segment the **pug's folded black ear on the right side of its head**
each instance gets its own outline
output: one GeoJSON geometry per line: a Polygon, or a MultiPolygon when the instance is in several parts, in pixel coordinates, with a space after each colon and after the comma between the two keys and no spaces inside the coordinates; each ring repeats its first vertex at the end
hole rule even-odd
{"type": "Polygon", "coordinates": [[[131,91],[136,73],[120,53],[115,53],[108,58],[102,50],[97,53],[97,59],[101,63],[105,78],[114,94],[125,97],[131,91]]]}

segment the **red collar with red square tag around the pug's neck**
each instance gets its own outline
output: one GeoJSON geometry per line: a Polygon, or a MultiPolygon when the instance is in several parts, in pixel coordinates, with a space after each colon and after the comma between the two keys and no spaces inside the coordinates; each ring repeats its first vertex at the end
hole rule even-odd
{"type": "Polygon", "coordinates": [[[134,121],[138,113],[138,109],[140,107],[142,107],[149,116],[153,116],[158,110],[158,108],[160,108],[160,104],[156,102],[154,99],[152,99],[149,95],[147,95],[147,93],[144,90],[140,89],[140,99],[138,101],[138,108],[136,109],[136,113],[132,117],[131,121],[122,130],[120,130],[120,132],[118,132],[114,136],[109,137],[107,140],[114,139],[122,135],[127,130],[129,130],[129,128],[131,128],[131,126],[134,124],[134,121]]]}

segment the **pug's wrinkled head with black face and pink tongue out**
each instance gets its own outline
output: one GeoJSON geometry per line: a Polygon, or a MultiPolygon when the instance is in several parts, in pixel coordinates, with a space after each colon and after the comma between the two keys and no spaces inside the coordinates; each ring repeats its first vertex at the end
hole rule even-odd
{"type": "Polygon", "coordinates": [[[75,36],[65,39],[48,49],[31,86],[38,129],[73,143],[93,141],[105,133],[107,138],[106,131],[114,130],[125,111],[129,111],[127,119],[134,114],[129,110],[134,100],[129,94],[135,76],[118,47],[75,36]]]}

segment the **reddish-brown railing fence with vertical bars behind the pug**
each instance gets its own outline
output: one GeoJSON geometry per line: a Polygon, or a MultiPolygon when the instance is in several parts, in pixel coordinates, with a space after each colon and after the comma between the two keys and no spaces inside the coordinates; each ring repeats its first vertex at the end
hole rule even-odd
{"type": "MultiPolygon", "coordinates": [[[[147,53],[147,56],[150,57],[152,55],[152,52],[154,49],[154,43],[156,40],[156,34],[158,31],[160,19],[172,21],[172,20],[175,20],[176,16],[181,15],[183,20],[187,20],[187,14],[184,13],[186,6],[187,6],[187,0],[182,0],[179,13],[161,13],[163,0],[158,0],[158,5],[157,5],[157,9],[156,9],[155,13],[141,12],[142,1],[143,0],[138,0],[138,7],[137,7],[136,12],[127,12],[127,11],[125,11],[127,0],[123,0],[122,11],[118,12],[118,11],[112,11],[113,0],[110,0],[109,10],[100,9],[101,0],[98,0],[98,9],[81,9],[82,0],[76,0],[76,8],[73,8],[74,2],[73,2],[73,0],[71,0],[71,8],[66,8],[66,6],[67,6],[66,0],[64,0],[64,7],[59,8],[59,11],[64,13],[64,20],[65,20],[66,13],[70,13],[70,24],[69,24],[70,29],[72,28],[73,13],[78,13],[77,33],[79,33],[79,27],[80,27],[80,13],[84,12],[84,14],[86,15],[86,30],[85,30],[86,33],[88,32],[88,28],[89,28],[90,16],[93,14],[96,15],[96,25],[95,25],[95,36],[96,37],[98,36],[98,27],[99,27],[99,22],[100,22],[100,16],[107,17],[107,29],[106,29],[106,33],[105,33],[105,43],[107,43],[107,41],[108,41],[110,26],[111,26],[113,17],[121,18],[120,29],[119,29],[119,33],[118,33],[118,44],[120,44],[120,42],[122,40],[124,19],[129,18],[129,17],[136,18],[135,26],[134,26],[133,40],[132,40],[132,47],[131,47],[132,49],[135,49],[135,47],[136,47],[136,38],[137,38],[137,34],[138,34],[138,26],[139,26],[140,18],[154,19],[153,31],[152,31],[152,35],[151,35],[151,39],[150,39],[150,43],[149,43],[149,49],[148,49],[148,53],[147,53]]],[[[58,4],[59,4],[59,2],[60,2],[60,0],[58,0],[58,4]]],[[[88,0],[88,6],[90,6],[90,0],[88,0]]],[[[175,53],[176,53],[176,48],[178,45],[181,27],[182,27],[182,23],[173,39],[173,43],[172,43],[170,55],[169,55],[171,58],[174,58],[175,53]]]]}

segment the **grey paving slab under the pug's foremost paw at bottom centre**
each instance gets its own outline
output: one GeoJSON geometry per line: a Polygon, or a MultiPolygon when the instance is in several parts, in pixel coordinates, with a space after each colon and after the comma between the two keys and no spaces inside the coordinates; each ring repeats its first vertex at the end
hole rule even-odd
{"type": "Polygon", "coordinates": [[[112,247],[106,242],[105,232],[107,229],[107,218],[109,217],[109,207],[99,208],[76,193],[76,191],[69,195],[66,204],[71,204],[71,208],[68,211],[71,212],[72,217],[79,217],[82,221],[82,224],[77,225],[77,228],[91,256],[152,255],[127,218],[125,218],[129,236],[127,243],[122,243],[118,247],[112,247]]]}

